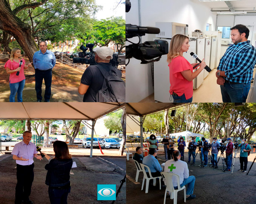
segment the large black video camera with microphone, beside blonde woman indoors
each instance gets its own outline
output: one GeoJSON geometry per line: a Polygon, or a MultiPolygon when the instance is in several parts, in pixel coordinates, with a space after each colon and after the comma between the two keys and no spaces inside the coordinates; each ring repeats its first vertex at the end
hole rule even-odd
{"type": "MultiPolygon", "coordinates": [[[[130,11],[130,1],[126,0],[126,12],[130,11]]],[[[126,41],[132,43],[132,45],[126,46],[126,59],[134,57],[135,59],[141,60],[141,64],[146,64],[150,62],[157,62],[160,60],[163,54],[168,54],[168,42],[166,40],[154,40],[146,41],[140,44],[140,36],[147,34],[158,34],[160,32],[159,28],[154,27],[141,27],[132,24],[126,24],[126,41]],[[128,38],[139,37],[138,43],[133,43],[128,38]],[[157,59],[154,59],[157,58],[157,59]],[[150,61],[147,61],[150,60],[150,61]]],[[[129,63],[128,61],[128,63],[129,63]]],[[[127,63],[127,64],[128,64],[127,63]]]]}

